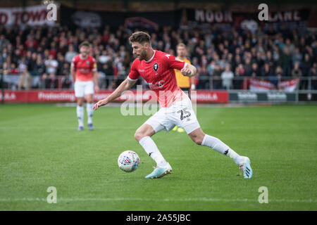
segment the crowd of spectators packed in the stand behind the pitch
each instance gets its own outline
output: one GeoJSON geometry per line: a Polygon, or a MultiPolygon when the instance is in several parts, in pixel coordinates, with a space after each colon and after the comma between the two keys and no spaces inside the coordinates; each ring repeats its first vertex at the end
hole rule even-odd
{"type": "MultiPolygon", "coordinates": [[[[223,32],[216,26],[204,30],[160,27],[150,32],[154,49],[175,55],[183,42],[188,58],[197,68],[197,89],[242,89],[244,77],[303,79],[300,89],[317,89],[317,32],[299,33],[285,27],[263,32],[223,32]],[[241,79],[239,79],[239,77],[241,79]],[[309,84],[311,86],[309,86],[309,84]]],[[[19,75],[17,89],[70,89],[70,63],[82,41],[92,44],[97,60],[99,86],[114,89],[127,77],[133,61],[129,30],[120,27],[1,27],[0,69],[4,75],[19,75]]],[[[141,79],[139,84],[145,84],[141,79]]]]}

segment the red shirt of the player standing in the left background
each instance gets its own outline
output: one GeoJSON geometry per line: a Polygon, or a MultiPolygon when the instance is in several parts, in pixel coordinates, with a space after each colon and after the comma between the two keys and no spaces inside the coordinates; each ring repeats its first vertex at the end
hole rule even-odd
{"type": "Polygon", "coordinates": [[[97,70],[97,64],[92,56],[82,58],[78,54],[73,58],[71,68],[76,70],[76,81],[88,82],[92,81],[92,71],[97,70]]]}

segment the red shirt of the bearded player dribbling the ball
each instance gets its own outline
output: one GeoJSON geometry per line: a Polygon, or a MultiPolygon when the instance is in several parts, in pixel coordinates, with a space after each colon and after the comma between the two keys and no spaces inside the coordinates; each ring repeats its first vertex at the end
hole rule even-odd
{"type": "Polygon", "coordinates": [[[155,91],[161,107],[166,108],[182,99],[183,92],[178,86],[174,70],[182,70],[185,66],[186,63],[175,56],[156,50],[148,61],[134,60],[128,79],[135,81],[142,76],[149,88],[155,91]]]}

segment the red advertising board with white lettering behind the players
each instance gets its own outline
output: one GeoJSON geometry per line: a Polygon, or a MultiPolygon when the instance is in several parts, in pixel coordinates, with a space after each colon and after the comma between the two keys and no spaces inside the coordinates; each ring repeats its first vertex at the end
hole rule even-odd
{"type": "MultiPolygon", "coordinates": [[[[112,91],[99,91],[94,94],[94,101],[106,98],[112,91]]],[[[151,91],[136,90],[126,91],[117,101],[154,101],[151,98],[151,91]]],[[[196,91],[197,103],[228,103],[229,95],[227,91],[196,91]]],[[[0,99],[2,95],[0,94],[0,99]]],[[[76,100],[74,91],[4,91],[4,101],[11,103],[36,103],[36,102],[74,102],[76,100]]]]}

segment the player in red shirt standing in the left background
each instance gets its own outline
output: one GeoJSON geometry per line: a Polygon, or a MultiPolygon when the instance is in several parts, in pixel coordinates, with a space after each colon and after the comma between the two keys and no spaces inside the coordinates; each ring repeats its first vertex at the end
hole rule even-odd
{"type": "Polygon", "coordinates": [[[79,46],[80,54],[75,56],[72,60],[70,72],[73,75],[75,82],[75,97],[77,98],[77,119],[78,131],[84,129],[84,107],[85,96],[87,99],[87,117],[88,127],[93,130],[92,125],[92,106],[94,105],[93,95],[94,91],[99,91],[98,77],[97,77],[97,64],[92,56],[88,55],[89,43],[82,42],[79,46]]]}

